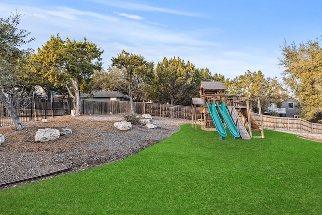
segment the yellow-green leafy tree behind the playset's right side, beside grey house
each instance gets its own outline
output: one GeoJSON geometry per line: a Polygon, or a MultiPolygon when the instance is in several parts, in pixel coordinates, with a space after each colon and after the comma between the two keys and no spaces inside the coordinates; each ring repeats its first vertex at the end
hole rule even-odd
{"type": "Polygon", "coordinates": [[[240,94],[250,99],[260,99],[261,109],[265,110],[269,103],[278,103],[287,98],[285,90],[276,78],[265,78],[261,71],[252,73],[248,70],[229,82],[225,82],[227,93],[240,94]]]}

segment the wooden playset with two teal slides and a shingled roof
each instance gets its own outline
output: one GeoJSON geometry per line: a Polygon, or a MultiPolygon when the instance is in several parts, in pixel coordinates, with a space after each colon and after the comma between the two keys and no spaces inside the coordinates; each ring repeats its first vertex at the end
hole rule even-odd
{"type": "Polygon", "coordinates": [[[233,138],[264,138],[259,99],[227,95],[225,90],[222,82],[201,82],[200,98],[192,98],[192,126],[196,128],[198,124],[203,130],[217,130],[220,139],[226,136],[221,126],[228,128],[233,138]],[[260,135],[253,131],[258,131],[260,135]]]}

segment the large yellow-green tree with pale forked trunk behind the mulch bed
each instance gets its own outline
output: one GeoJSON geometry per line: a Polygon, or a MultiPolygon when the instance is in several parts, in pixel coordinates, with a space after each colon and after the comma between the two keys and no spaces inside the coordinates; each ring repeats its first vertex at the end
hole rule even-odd
{"type": "Polygon", "coordinates": [[[73,99],[75,114],[81,111],[80,92],[90,92],[91,80],[95,70],[101,70],[101,48],[87,41],[76,42],[68,37],[51,36],[38,54],[32,56],[36,63],[33,70],[48,79],[55,87],[65,86],[73,99]]]}

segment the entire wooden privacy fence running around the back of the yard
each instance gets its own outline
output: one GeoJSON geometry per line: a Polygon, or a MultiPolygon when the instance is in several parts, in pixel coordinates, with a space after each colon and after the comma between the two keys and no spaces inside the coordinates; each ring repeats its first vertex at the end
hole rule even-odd
{"type": "MultiPolygon", "coordinates": [[[[46,117],[69,115],[71,101],[64,99],[34,99],[24,108],[17,108],[21,121],[36,121],[46,117]]],[[[182,105],[153,104],[134,102],[137,114],[148,113],[151,116],[192,119],[192,107],[182,105]]],[[[82,101],[81,114],[126,114],[131,112],[130,102],[123,101],[82,101]]],[[[196,110],[200,118],[200,110],[196,110]]],[[[8,111],[0,104],[0,127],[13,124],[8,111]]],[[[266,129],[306,131],[322,133],[322,124],[311,123],[300,118],[275,117],[263,115],[263,126],[266,129]]]]}

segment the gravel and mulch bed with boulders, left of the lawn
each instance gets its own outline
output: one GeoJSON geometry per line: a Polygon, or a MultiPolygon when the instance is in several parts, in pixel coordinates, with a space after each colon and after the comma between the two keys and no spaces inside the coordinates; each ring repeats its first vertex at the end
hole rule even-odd
{"type": "MultiPolygon", "coordinates": [[[[123,115],[63,116],[49,118],[47,123],[24,123],[25,129],[21,131],[13,126],[1,128],[6,140],[0,146],[0,184],[65,168],[70,168],[67,172],[70,173],[120,161],[179,131],[180,124],[191,123],[153,117],[155,129],[134,125],[131,130],[120,131],[114,127],[117,121],[124,121],[123,115]],[[69,128],[72,134],[44,143],[35,141],[36,131],[46,127],[60,131],[69,128]]],[[[58,175],[61,174],[66,173],[58,175]]],[[[1,186],[0,190],[33,181],[1,186]]]]}

